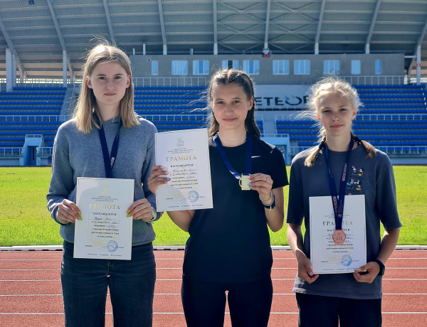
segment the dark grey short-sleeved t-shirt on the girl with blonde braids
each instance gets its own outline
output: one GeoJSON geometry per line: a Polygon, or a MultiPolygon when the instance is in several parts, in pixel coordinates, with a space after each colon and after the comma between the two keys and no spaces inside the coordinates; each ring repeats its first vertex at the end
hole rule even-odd
{"type": "MultiPolygon", "coordinates": [[[[310,196],[330,196],[325,156],[320,151],[315,164],[304,166],[307,154],[312,149],[300,152],[292,160],[287,223],[302,225],[305,219],[304,252],[310,258],[310,196]]],[[[328,150],[328,158],[337,191],[347,151],[328,150]]],[[[352,150],[347,170],[346,195],[365,195],[367,224],[367,262],[375,261],[381,245],[380,222],[385,229],[401,227],[396,206],[396,186],[393,166],[389,157],[379,150],[376,156],[367,159],[363,146],[352,150]]],[[[372,284],[359,283],[353,274],[321,274],[312,284],[295,278],[293,291],[297,293],[337,296],[349,299],[380,299],[381,277],[372,284]]]]}

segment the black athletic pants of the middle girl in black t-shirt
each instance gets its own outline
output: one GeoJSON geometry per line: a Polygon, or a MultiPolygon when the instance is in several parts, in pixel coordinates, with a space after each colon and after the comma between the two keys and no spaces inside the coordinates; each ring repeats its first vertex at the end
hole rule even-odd
{"type": "Polygon", "coordinates": [[[267,327],[273,284],[271,279],[231,284],[184,279],[181,298],[188,327],[223,327],[227,298],[233,327],[267,327]]]}

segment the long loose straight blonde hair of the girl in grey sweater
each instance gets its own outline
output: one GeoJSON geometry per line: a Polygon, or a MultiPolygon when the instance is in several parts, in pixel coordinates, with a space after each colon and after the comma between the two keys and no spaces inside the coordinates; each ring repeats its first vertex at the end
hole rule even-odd
{"type": "Polygon", "coordinates": [[[102,42],[89,51],[86,56],[86,63],[83,65],[82,87],[73,114],[80,132],[88,134],[92,131],[93,126],[98,129],[102,126],[102,117],[96,104],[95,95],[93,90],[88,87],[86,80],[92,75],[98,63],[111,62],[120,64],[125,69],[127,75],[130,76],[130,86],[127,87],[125,96],[120,100],[119,104],[119,114],[123,126],[130,128],[139,124],[134,112],[134,85],[132,82],[130,59],[119,48],[102,42]],[[99,119],[98,121],[95,119],[93,113],[96,114],[99,119]]]}

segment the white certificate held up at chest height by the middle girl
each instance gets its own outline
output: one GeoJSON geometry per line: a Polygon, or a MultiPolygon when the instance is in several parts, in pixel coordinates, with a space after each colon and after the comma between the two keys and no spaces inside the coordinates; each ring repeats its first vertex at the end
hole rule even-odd
{"type": "Polygon", "coordinates": [[[207,129],[157,133],[156,164],[171,178],[157,186],[157,211],[214,208],[207,129]]]}

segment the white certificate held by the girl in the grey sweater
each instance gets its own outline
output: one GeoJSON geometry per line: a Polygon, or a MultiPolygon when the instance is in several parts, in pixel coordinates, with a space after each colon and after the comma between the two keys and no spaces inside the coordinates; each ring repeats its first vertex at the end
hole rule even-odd
{"type": "Polygon", "coordinates": [[[75,220],[74,257],[130,260],[134,200],[133,179],[77,178],[77,205],[83,220],[75,220]]]}

